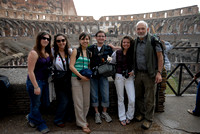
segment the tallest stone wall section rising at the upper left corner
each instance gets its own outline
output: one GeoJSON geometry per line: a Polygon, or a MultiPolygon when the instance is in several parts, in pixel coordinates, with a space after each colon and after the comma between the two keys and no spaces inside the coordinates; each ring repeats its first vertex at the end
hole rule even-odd
{"type": "MultiPolygon", "coordinates": [[[[77,15],[73,0],[1,0],[0,8],[30,13],[77,15]]],[[[16,14],[17,15],[17,14],[16,14]]]]}

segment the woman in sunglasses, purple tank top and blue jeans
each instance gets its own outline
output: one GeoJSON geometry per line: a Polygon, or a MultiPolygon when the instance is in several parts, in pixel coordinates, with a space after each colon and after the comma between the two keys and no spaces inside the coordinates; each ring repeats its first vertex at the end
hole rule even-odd
{"type": "Polygon", "coordinates": [[[30,113],[26,118],[31,127],[37,127],[42,133],[49,132],[39,108],[41,104],[45,107],[50,104],[48,77],[53,58],[50,44],[51,35],[48,32],[40,32],[37,35],[35,46],[28,54],[26,87],[30,97],[30,113]]]}

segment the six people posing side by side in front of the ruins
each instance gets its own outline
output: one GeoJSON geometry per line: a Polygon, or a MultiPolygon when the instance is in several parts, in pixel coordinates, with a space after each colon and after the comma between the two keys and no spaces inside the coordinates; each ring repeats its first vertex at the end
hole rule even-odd
{"type": "Polygon", "coordinates": [[[50,105],[48,77],[51,66],[55,73],[65,72],[62,79],[54,81],[58,100],[55,125],[64,127],[67,110],[74,108],[77,126],[81,127],[83,132],[90,133],[86,118],[90,105],[95,111],[95,123],[102,123],[102,118],[111,122],[112,118],[107,112],[108,78],[99,74],[87,77],[80,73],[82,69],[91,69],[94,72],[99,65],[107,61],[108,56],[111,56],[110,62],[116,65],[114,83],[120,124],[125,126],[135,118],[137,121],[143,120],[142,128],[149,129],[154,117],[156,85],[162,82],[163,50],[157,40],[153,48],[154,36],[149,33],[145,21],[136,24],[136,35],[135,40],[124,36],[121,47],[118,48],[105,44],[106,33],[101,30],[95,34],[97,43],[88,46],[90,36],[83,32],[79,35],[79,47],[72,50],[64,34],[55,35],[51,47],[51,35],[40,32],[33,50],[28,55],[26,85],[30,96],[30,113],[27,115],[29,125],[37,127],[42,133],[49,132],[42,119],[40,105],[50,105]],[[127,110],[124,104],[124,89],[128,97],[127,110]],[[70,107],[72,103],[73,107],[70,107]],[[102,112],[99,110],[99,103],[102,112]]]}

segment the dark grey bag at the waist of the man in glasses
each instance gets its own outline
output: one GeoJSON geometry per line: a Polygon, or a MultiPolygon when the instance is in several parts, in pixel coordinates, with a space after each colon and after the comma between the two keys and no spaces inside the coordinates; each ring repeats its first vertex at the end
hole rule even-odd
{"type": "Polygon", "coordinates": [[[116,73],[115,65],[111,63],[105,63],[98,67],[98,73],[105,77],[113,76],[116,73]]]}

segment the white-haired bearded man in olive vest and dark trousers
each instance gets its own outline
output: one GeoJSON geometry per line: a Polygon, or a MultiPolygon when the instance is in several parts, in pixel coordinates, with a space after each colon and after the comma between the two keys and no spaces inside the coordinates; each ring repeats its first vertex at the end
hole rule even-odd
{"type": "Polygon", "coordinates": [[[137,121],[144,119],[141,127],[149,129],[154,117],[157,83],[162,81],[163,55],[159,42],[152,43],[152,39],[155,40],[155,37],[149,33],[149,27],[145,21],[139,21],[136,24],[136,35],[133,52],[135,119],[137,121]]]}

